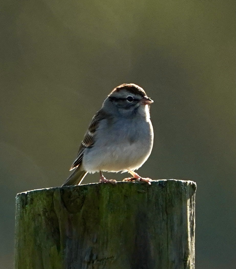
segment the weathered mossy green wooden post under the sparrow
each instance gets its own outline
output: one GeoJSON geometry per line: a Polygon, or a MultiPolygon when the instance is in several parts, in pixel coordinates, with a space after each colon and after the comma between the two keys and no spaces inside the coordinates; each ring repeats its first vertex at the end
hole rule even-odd
{"type": "Polygon", "coordinates": [[[16,269],[195,268],[196,183],[94,183],[16,196],[16,269]]]}

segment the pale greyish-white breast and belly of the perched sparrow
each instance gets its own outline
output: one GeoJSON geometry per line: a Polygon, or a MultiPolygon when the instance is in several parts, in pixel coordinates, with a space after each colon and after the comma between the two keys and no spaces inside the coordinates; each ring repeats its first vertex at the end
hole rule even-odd
{"type": "Polygon", "coordinates": [[[150,119],[119,119],[112,124],[100,122],[93,147],[87,148],[83,166],[90,173],[125,172],[138,169],[149,157],[153,146],[150,119]]]}

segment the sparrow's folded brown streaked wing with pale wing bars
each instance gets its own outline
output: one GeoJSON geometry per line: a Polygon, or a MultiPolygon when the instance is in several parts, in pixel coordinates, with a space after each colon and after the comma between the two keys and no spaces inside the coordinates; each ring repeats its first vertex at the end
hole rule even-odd
{"type": "Polygon", "coordinates": [[[102,109],[100,109],[94,116],[93,119],[89,125],[89,128],[84,136],[84,140],[82,141],[82,143],[80,144],[79,147],[79,151],[78,151],[78,155],[77,158],[75,159],[75,161],[73,162],[72,166],[71,166],[71,170],[75,169],[76,167],[78,167],[82,160],[83,160],[83,155],[84,155],[84,150],[86,148],[91,148],[94,145],[94,135],[96,134],[96,130],[98,127],[98,123],[107,118],[108,114],[103,111],[102,109]]]}

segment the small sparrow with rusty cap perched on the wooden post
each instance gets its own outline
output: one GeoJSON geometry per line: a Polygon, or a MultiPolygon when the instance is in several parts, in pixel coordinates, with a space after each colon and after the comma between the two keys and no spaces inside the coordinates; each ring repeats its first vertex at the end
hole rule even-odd
{"type": "Polygon", "coordinates": [[[78,155],[62,186],[80,185],[87,173],[100,173],[100,183],[116,184],[102,172],[128,172],[125,181],[145,181],[135,170],[148,159],[153,147],[153,126],[149,105],[153,100],[136,84],[114,88],[104,100],[80,144],[78,155]]]}

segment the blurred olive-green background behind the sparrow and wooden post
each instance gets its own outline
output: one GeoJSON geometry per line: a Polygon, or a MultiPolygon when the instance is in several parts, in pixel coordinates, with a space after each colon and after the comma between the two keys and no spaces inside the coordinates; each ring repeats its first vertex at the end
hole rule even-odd
{"type": "Polygon", "coordinates": [[[235,1],[3,0],[0,23],[0,268],[16,193],[64,182],[121,83],[154,100],[139,174],[197,182],[196,268],[235,268],[235,1]]]}

